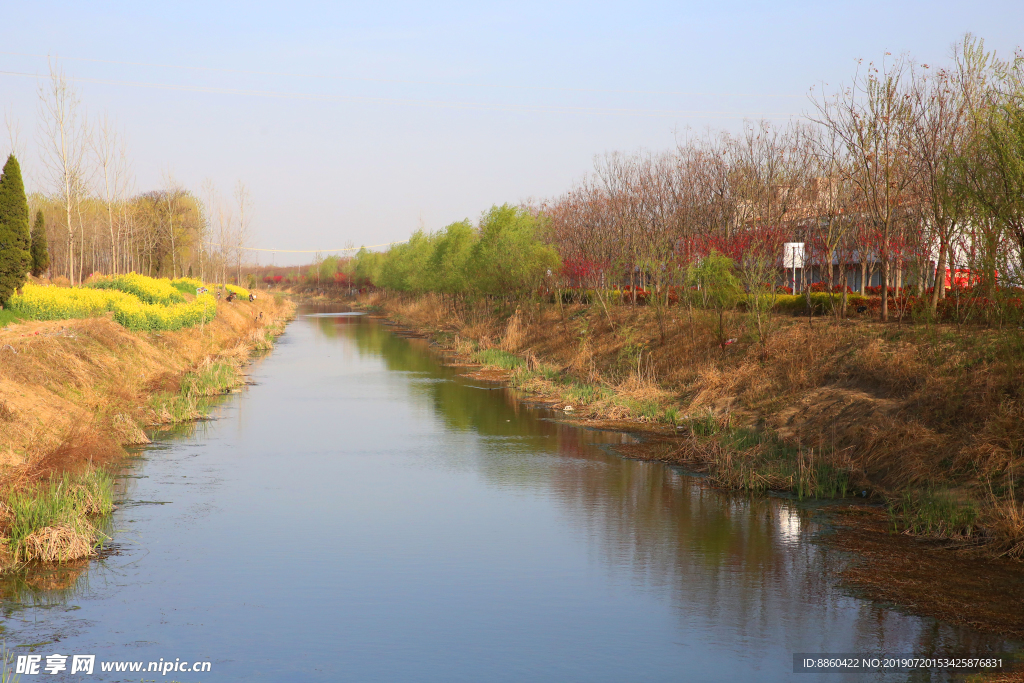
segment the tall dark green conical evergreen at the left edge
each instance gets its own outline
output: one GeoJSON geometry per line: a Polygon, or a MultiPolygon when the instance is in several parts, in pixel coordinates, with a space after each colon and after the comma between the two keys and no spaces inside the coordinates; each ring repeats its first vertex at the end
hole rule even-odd
{"type": "Polygon", "coordinates": [[[22,168],[11,155],[0,175],[0,306],[25,284],[32,262],[29,239],[29,200],[22,168]]]}

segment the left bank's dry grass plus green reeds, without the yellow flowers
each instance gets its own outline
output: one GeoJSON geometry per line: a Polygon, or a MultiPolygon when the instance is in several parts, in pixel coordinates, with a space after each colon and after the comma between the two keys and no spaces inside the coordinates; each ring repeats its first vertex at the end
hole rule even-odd
{"type": "Polygon", "coordinates": [[[200,398],[233,382],[292,310],[260,297],[221,303],[212,323],[180,332],[130,332],[110,317],[0,330],[0,533],[22,532],[0,564],[92,555],[101,532],[91,518],[110,503],[94,500],[109,494],[89,473],[146,442],[143,427],[199,417],[200,398]],[[15,519],[26,506],[54,521],[26,528],[15,519]]]}

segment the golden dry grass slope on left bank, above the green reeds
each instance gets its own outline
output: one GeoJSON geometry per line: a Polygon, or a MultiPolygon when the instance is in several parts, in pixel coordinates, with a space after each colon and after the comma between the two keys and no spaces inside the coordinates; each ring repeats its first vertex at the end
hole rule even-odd
{"type": "Polygon", "coordinates": [[[136,334],[109,317],[24,323],[0,330],[4,478],[43,475],[70,462],[145,441],[161,422],[151,395],[212,360],[240,365],[267,344],[290,304],[261,297],[222,303],[203,329],[136,334]],[[257,319],[260,313],[262,319],[257,319]]]}

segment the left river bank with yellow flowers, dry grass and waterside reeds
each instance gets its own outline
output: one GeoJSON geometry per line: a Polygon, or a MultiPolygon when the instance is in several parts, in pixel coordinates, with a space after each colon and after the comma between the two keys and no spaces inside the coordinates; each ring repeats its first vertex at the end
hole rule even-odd
{"type": "Polygon", "coordinates": [[[93,554],[113,509],[103,465],[146,442],[144,427],[202,417],[294,310],[197,297],[184,279],[120,280],[30,285],[0,311],[0,568],[93,554]]]}

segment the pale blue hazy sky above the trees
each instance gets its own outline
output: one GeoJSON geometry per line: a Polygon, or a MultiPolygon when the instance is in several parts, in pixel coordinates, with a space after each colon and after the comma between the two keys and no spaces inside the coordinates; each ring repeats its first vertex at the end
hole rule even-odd
{"type": "MultiPolygon", "coordinates": [[[[887,50],[944,63],[968,31],[1005,56],[1024,45],[1024,3],[1010,1],[33,2],[4,14],[0,71],[43,74],[45,56],[30,55],[62,57],[90,116],[126,130],[137,189],[167,171],[225,196],[242,179],[257,246],[281,249],[400,240],[551,197],[595,155],[800,115],[812,86],[887,50]]],[[[36,90],[0,75],[30,188],[46,189],[36,90]]]]}

